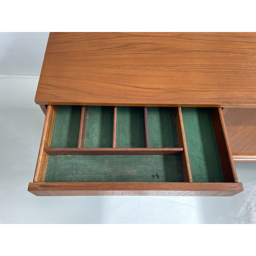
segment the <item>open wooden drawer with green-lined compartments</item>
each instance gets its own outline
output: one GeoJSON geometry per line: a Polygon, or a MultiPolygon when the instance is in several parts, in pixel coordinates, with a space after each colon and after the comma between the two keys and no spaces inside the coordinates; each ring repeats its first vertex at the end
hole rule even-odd
{"type": "Polygon", "coordinates": [[[48,105],[36,196],[233,196],[221,108],[48,105]]]}

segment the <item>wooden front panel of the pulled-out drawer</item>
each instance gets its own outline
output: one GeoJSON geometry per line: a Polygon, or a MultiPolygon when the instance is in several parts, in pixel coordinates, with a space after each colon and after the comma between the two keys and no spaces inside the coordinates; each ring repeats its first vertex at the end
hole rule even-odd
{"type": "Polygon", "coordinates": [[[36,196],[234,196],[242,183],[194,182],[30,182],[36,196]]]}

